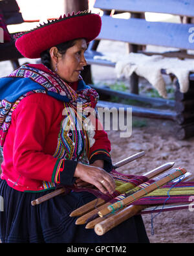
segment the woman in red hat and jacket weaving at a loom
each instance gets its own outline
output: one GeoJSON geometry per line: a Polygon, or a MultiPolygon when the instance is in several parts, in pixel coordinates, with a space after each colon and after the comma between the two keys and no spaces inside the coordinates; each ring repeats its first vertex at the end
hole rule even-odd
{"type": "Polygon", "coordinates": [[[100,16],[79,12],[16,36],[21,54],[41,57],[42,64],[23,65],[0,80],[2,242],[148,242],[140,216],[103,237],[76,226],[69,214],[94,199],[88,192],[30,205],[60,185],[114,192],[111,144],[88,111],[98,94],[80,76],[87,43],[100,29],[100,16]]]}

